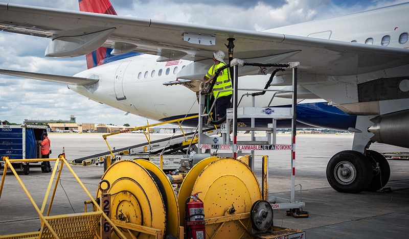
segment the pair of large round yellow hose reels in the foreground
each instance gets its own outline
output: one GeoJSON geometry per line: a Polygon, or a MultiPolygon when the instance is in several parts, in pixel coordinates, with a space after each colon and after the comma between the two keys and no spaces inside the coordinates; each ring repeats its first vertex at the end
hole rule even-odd
{"type": "MultiPolygon", "coordinates": [[[[233,158],[210,157],[187,173],[178,195],[155,164],[137,159],[112,164],[102,176],[111,195],[110,218],[127,238],[179,238],[185,201],[194,193],[203,201],[206,237],[250,237],[252,205],[261,200],[259,182],[248,166],[233,158]]],[[[101,195],[98,189],[97,198],[101,195]]],[[[118,238],[115,232],[112,238],[118,238]]]]}

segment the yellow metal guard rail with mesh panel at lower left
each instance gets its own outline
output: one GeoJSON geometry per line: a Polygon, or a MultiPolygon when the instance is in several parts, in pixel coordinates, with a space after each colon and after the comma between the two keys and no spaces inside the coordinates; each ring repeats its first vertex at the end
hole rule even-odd
{"type": "Polygon", "coordinates": [[[104,213],[101,209],[100,205],[96,202],[93,196],[88,192],[85,188],[84,184],[75,174],[73,169],[71,168],[70,164],[65,160],[62,154],[59,155],[58,158],[41,158],[41,159],[9,159],[9,157],[3,157],[3,161],[5,161],[4,172],[2,177],[2,183],[0,185],[0,199],[2,197],[3,186],[6,179],[7,168],[10,167],[10,170],[13,172],[14,176],[16,177],[17,181],[20,183],[22,189],[27,194],[28,198],[30,199],[31,203],[33,204],[35,210],[38,213],[41,222],[40,231],[37,232],[28,232],[28,233],[20,233],[20,234],[12,234],[12,235],[0,235],[0,238],[72,238],[72,239],[81,239],[81,238],[92,238],[95,236],[96,238],[101,238],[100,236],[100,220],[101,217],[105,218],[107,222],[112,226],[112,229],[117,232],[117,235],[120,238],[126,239],[125,235],[119,230],[119,228],[112,223],[111,219],[104,213]],[[33,197],[29,193],[27,187],[21,181],[20,177],[18,176],[17,172],[15,171],[12,163],[13,162],[38,162],[38,161],[55,161],[53,172],[51,174],[50,182],[47,187],[46,195],[44,196],[44,200],[41,205],[41,209],[38,208],[36,202],[33,200],[33,197]],[[96,211],[92,212],[83,212],[83,213],[74,213],[74,214],[62,214],[56,216],[50,216],[51,206],[53,205],[54,196],[57,190],[58,181],[60,180],[61,171],[63,165],[70,170],[72,175],[75,177],[77,182],[81,185],[84,192],[93,202],[96,211]],[[58,170],[57,170],[58,169],[58,170]],[[50,195],[50,190],[53,185],[55,174],[58,172],[56,181],[54,184],[54,189],[52,192],[52,196],[50,199],[50,204],[47,209],[47,213],[44,215],[44,209],[46,208],[46,204],[50,195]]]}

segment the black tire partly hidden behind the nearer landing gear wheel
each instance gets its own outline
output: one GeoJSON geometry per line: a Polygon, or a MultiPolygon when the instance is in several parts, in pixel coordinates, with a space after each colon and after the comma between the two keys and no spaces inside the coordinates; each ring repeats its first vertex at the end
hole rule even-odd
{"type": "Polygon", "coordinates": [[[391,167],[389,166],[388,160],[376,151],[367,150],[365,156],[371,163],[373,170],[372,182],[365,190],[373,192],[381,189],[388,183],[389,177],[391,176],[391,167]],[[377,163],[379,163],[379,168],[377,167],[377,163]]]}

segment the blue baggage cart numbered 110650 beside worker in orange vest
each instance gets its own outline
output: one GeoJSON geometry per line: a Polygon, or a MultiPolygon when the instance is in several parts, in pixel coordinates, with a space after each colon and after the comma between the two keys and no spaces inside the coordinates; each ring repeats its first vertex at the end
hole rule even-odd
{"type": "MultiPolygon", "coordinates": [[[[36,125],[0,125],[0,160],[41,158],[41,135],[47,132],[46,126],[36,125]]],[[[1,161],[1,165],[4,161],[1,161]]],[[[38,162],[13,162],[24,172],[30,173],[30,165],[40,167],[38,162]],[[31,164],[30,164],[31,163],[31,164]]]]}

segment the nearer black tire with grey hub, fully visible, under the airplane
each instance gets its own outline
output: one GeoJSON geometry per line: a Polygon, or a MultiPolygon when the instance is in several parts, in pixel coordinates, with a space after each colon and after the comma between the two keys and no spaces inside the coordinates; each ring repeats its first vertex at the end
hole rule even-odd
{"type": "Polygon", "coordinates": [[[372,178],[369,160],[357,151],[338,152],[327,165],[328,183],[340,193],[360,193],[369,186],[372,178]]]}

